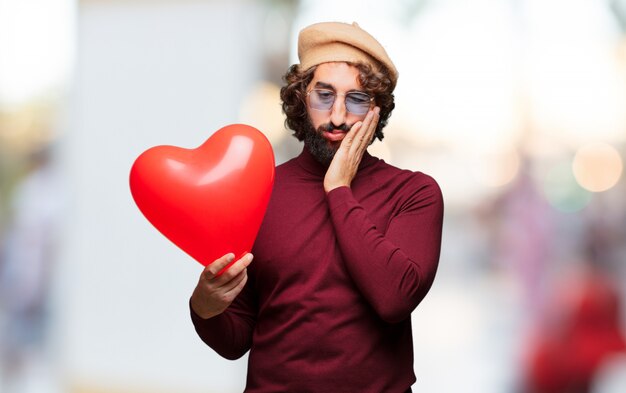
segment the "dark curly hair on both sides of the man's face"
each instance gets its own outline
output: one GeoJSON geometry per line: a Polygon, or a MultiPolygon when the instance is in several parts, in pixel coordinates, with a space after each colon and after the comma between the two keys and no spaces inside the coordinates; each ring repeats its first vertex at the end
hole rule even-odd
{"type": "MultiPolygon", "coordinates": [[[[374,102],[380,108],[380,118],[374,133],[374,139],[384,138],[383,128],[389,121],[391,111],[395,107],[393,89],[394,84],[386,69],[374,70],[372,66],[365,63],[348,63],[359,70],[359,83],[363,90],[374,97],[374,102]]],[[[313,66],[306,71],[300,72],[298,65],[289,67],[283,76],[286,85],[280,89],[280,98],[283,101],[283,112],[286,115],[285,126],[293,131],[293,135],[299,141],[304,140],[304,136],[310,129],[309,114],[306,106],[306,88],[313,80],[313,75],[317,66],[313,66]]]]}

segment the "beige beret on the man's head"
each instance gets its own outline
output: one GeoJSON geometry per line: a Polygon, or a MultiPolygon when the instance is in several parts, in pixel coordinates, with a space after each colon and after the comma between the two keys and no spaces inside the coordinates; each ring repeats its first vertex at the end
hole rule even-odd
{"type": "Polygon", "coordinates": [[[398,70],[385,48],[356,22],[323,22],[302,29],[298,36],[298,58],[303,71],[332,61],[364,62],[378,70],[385,67],[394,86],[398,80],[398,70]]]}

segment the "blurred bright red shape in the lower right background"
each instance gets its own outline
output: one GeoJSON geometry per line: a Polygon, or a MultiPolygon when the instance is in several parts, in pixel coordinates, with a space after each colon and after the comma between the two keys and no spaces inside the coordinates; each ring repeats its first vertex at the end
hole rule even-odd
{"type": "Polygon", "coordinates": [[[552,323],[530,343],[529,393],[590,393],[598,369],[626,352],[620,294],[612,282],[589,273],[568,285],[550,310],[552,323]]]}

